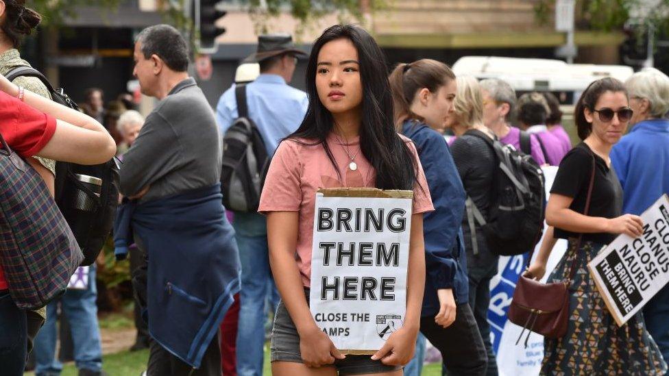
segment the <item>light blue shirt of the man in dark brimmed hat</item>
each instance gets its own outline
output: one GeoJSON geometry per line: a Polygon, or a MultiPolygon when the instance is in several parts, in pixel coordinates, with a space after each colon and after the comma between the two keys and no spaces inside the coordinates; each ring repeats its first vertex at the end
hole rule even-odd
{"type": "MultiPolygon", "coordinates": [[[[216,106],[216,121],[221,134],[239,115],[234,98],[234,85],[223,92],[216,106]]],[[[278,75],[260,75],[246,86],[249,117],[258,126],[267,153],[273,155],[280,140],[293,133],[302,123],[309,100],[306,92],[286,84],[278,75]]]]}

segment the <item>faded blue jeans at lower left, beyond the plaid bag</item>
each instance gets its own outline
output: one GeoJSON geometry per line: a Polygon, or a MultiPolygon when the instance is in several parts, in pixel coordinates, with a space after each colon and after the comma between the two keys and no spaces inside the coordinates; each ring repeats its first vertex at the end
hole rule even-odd
{"type": "Polygon", "coordinates": [[[102,368],[102,342],[97,324],[97,288],[95,286],[95,265],[90,267],[88,289],[67,290],[58,300],[47,305],[47,321],[35,338],[35,373],[41,375],[60,375],[62,364],[56,357],[56,320],[58,302],[62,314],[72,329],[74,360],[77,368],[94,372],[102,368]]]}

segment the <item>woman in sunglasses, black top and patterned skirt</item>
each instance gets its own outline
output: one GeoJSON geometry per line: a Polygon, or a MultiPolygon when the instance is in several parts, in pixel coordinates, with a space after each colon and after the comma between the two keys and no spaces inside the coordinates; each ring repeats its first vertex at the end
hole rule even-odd
{"type": "Polygon", "coordinates": [[[609,158],[632,114],[627,91],[613,78],[590,84],[576,103],[574,116],[583,142],[560,163],[546,207],[550,227],[537,259],[526,271],[542,278],[556,238],[569,240],[567,253],[549,277],[557,282],[574,276],[569,324],[563,338],[544,339],[542,375],[664,375],[667,370],[642,315],[618,327],[587,270],[592,258],[619,234],[642,235],[639,216],[621,215],[622,188],[609,158]]]}

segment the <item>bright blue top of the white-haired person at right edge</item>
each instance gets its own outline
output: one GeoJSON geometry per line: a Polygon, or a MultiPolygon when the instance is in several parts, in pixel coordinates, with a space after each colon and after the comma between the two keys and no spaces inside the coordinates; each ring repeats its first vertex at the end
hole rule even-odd
{"type": "Polygon", "coordinates": [[[622,212],[642,214],[669,194],[669,120],[642,121],[613,145],[611,164],[622,186],[622,212]]]}

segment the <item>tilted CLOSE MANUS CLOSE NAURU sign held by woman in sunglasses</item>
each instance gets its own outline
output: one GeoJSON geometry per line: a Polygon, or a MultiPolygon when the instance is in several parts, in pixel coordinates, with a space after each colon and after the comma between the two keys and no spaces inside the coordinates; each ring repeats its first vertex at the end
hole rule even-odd
{"type": "Polygon", "coordinates": [[[620,235],[587,266],[619,326],[669,281],[669,199],[662,195],[641,215],[644,234],[620,235]]]}

